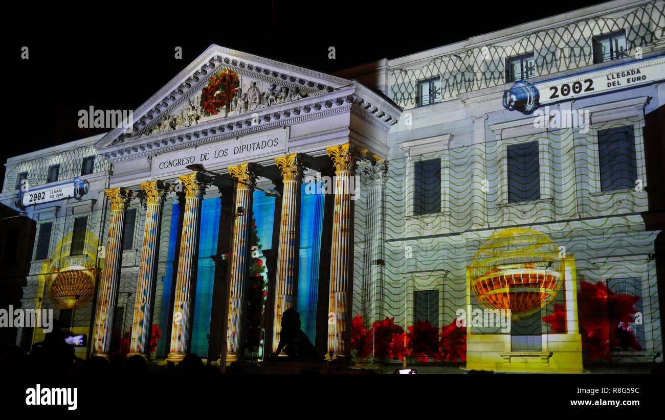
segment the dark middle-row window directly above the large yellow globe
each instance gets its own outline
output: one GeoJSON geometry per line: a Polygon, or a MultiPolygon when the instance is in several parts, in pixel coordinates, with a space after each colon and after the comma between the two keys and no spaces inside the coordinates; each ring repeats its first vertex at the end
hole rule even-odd
{"type": "Polygon", "coordinates": [[[509,203],[540,199],[538,142],[509,145],[507,158],[509,203]]]}

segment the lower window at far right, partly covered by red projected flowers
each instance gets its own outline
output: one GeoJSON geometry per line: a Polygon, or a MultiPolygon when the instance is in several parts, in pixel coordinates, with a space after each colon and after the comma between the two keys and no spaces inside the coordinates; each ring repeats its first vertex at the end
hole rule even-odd
{"type": "MultiPolygon", "coordinates": [[[[637,302],[633,304],[633,308],[644,314],[643,305],[642,305],[642,279],[641,278],[608,278],[607,279],[607,288],[612,290],[614,294],[628,294],[638,298],[637,302]]],[[[608,308],[612,310],[612,308],[608,308]]],[[[608,314],[608,319],[616,318],[616,314],[608,314]]],[[[634,314],[632,315],[634,319],[634,314]]],[[[630,334],[634,336],[637,343],[645,348],[646,342],[644,340],[644,323],[636,324],[635,322],[617,322],[616,325],[610,325],[610,332],[616,330],[616,338],[618,339],[618,345],[613,350],[616,352],[621,352],[623,350],[628,350],[628,345],[633,344],[634,342],[630,337],[630,334]]],[[[631,347],[632,348],[632,347],[631,347]]],[[[632,350],[638,350],[632,348],[632,350]]]]}

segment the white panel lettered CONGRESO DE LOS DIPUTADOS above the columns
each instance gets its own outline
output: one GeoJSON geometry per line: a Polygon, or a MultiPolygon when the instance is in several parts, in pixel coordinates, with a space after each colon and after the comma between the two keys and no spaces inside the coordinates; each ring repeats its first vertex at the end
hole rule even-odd
{"type": "Polygon", "coordinates": [[[272,130],[241,138],[223,140],[210,146],[201,146],[177,152],[156,155],[152,159],[152,177],[168,173],[184,173],[187,165],[201,163],[207,167],[238,161],[249,161],[263,156],[279,156],[287,150],[288,129],[272,130]]]}

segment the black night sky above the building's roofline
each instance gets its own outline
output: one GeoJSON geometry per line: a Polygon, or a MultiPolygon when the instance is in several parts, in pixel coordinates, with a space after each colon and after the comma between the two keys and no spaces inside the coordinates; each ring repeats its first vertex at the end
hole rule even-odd
{"type": "Polygon", "coordinates": [[[11,100],[0,163],[104,132],[78,128],[78,110],[134,110],[213,43],[334,72],[602,2],[245,0],[151,3],[145,10],[96,2],[49,10],[25,3],[24,11],[5,15],[11,100]],[[182,60],[174,58],[176,46],[182,60]]]}

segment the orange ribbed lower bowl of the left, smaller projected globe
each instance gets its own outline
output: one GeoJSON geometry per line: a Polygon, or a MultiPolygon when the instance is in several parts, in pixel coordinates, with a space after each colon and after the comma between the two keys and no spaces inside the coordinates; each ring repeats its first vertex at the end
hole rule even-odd
{"type": "Polygon", "coordinates": [[[90,301],[94,278],[85,267],[70,266],[59,272],[49,284],[51,302],[60,309],[78,309],[90,301]]]}

